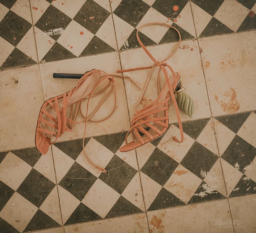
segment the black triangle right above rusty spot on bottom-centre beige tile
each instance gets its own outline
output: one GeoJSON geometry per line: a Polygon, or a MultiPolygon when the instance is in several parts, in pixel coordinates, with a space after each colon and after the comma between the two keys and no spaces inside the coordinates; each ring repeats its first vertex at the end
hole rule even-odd
{"type": "Polygon", "coordinates": [[[159,210],[179,205],[185,205],[185,203],[167,191],[165,188],[162,188],[147,211],[159,210]]]}

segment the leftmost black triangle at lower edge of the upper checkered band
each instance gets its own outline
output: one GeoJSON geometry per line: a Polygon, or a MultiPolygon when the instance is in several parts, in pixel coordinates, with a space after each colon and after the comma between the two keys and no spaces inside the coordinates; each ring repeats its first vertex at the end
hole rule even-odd
{"type": "Polygon", "coordinates": [[[0,69],[6,69],[15,66],[29,66],[36,64],[36,62],[22,53],[19,49],[14,48],[8,58],[5,60],[0,69]]]}

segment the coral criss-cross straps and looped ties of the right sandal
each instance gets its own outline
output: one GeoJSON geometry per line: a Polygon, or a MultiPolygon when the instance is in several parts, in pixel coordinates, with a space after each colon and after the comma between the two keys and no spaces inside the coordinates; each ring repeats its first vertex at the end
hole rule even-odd
{"type": "MultiPolygon", "coordinates": [[[[174,108],[175,108],[175,111],[176,111],[176,115],[177,115],[177,119],[178,119],[178,124],[179,124],[179,128],[180,128],[180,134],[181,134],[181,139],[180,140],[178,140],[175,136],[173,137],[173,139],[176,142],[180,143],[180,142],[183,141],[183,129],[182,129],[181,119],[180,119],[180,115],[179,115],[178,105],[177,105],[177,102],[176,102],[176,99],[175,99],[175,96],[174,96],[174,93],[173,93],[175,88],[176,88],[176,86],[177,86],[177,83],[179,81],[179,74],[176,74],[174,72],[174,70],[172,69],[172,67],[170,65],[168,65],[167,63],[165,63],[165,61],[167,61],[169,58],[171,58],[172,55],[176,52],[176,50],[179,47],[179,44],[180,44],[180,41],[181,41],[180,32],[175,27],[173,27],[171,25],[164,24],[164,23],[148,23],[148,24],[142,25],[137,30],[136,37],[137,37],[137,40],[138,40],[140,46],[146,52],[146,54],[151,58],[151,60],[154,62],[154,64],[152,66],[148,66],[148,67],[139,67],[139,68],[132,68],[132,69],[127,69],[127,70],[118,70],[117,71],[117,73],[124,73],[124,72],[130,72],[130,71],[136,71],[136,70],[142,70],[142,69],[151,69],[149,74],[148,74],[148,77],[146,79],[146,82],[145,82],[145,85],[143,87],[143,90],[141,92],[140,98],[138,99],[138,102],[135,105],[135,114],[134,114],[134,117],[133,117],[132,122],[131,122],[131,129],[128,131],[127,136],[128,136],[129,133],[132,133],[133,139],[138,138],[141,141],[141,143],[144,143],[143,142],[143,138],[138,133],[138,131],[140,130],[141,133],[147,135],[149,138],[152,138],[152,135],[149,135],[149,133],[145,132],[146,131],[145,129],[144,130],[142,129],[142,125],[143,124],[148,126],[148,127],[150,127],[151,131],[152,130],[155,131],[157,133],[157,136],[160,135],[162,132],[160,130],[158,130],[157,127],[155,127],[154,125],[160,124],[160,125],[168,128],[167,120],[165,120],[165,118],[161,118],[161,117],[151,117],[149,119],[146,116],[154,115],[154,114],[157,114],[157,113],[159,113],[161,111],[168,111],[167,110],[168,109],[168,106],[167,106],[168,104],[167,103],[168,103],[169,99],[171,98],[173,103],[174,103],[174,108]],[[177,43],[177,47],[174,49],[174,51],[167,58],[165,58],[164,60],[162,60],[160,62],[157,61],[153,57],[153,55],[148,51],[148,49],[141,42],[141,40],[139,38],[139,35],[138,35],[138,32],[139,32],[139,30],[141,28],[149,26],[149,25],[162,25],[162,26],[165,26],[165,27],[172,28],[179,35],[179,41],[177,43]],[[159,71],[158,71],[158,75],[157,75],[157,91],[158,91],[159,97],[154,102],[149,104],[148,106],[142,108],[141,110],[138,110],[140,102],[141,102],[141,100],[142,100],[142,98],[143,98],[143,96],[145,94],[145,91],[147,89],[147,86],[149,84],[150,78],[152,77],[153,70],[154,70],[154,68],[156,66],[159,67],[159,71]],[[170,80],[168,78],[168,70],[173,75],[173,78],[174,78],[173,84],[170,83],[170,80]],[[165,77],[165,80],[166,80],[166,85],[167,85],[167,87],[169,89],[169,92],[168,92],[168,95],[167,95],[166,99],[164,101],[158,103],[159,100],[160,100],[160,95],[161,95],[161,88],[160,88],[160,74],[161,74],[161,72],[163,72],[163,74],[164,74],[164,77],[165,77]],[[164,120],[164,122],[162,120],[160,120],[160,118],[162,120],[164,120]],[[154,122],[154,125],[150,124],[149,123],[150,121],[154,122]]],[[[126,136],[126,144],[127,144],[127,136],[126,136]]]]}

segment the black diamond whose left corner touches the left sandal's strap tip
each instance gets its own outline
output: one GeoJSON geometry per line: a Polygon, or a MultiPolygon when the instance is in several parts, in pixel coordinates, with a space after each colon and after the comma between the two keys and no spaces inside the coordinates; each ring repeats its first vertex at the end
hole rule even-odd
{"type": "Polygon", "coordinates": [[[105,167],[107,173],[101,173],[99,179],[122,194],[137,171],[124,160],[114,155],[105,167]]]}

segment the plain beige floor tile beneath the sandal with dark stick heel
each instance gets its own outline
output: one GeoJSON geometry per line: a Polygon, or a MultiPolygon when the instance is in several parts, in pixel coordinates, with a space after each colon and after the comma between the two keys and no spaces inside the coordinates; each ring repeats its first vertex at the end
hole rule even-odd
{"type": "MultiPolygon", "coordinates": [[[[72,60],[57,61],[46,64],[40,64],[44,98],[61,95],[64,92],[74,88],[78,80],[74,79],[53,79],[53,73],[84,73],[91,69],[101,69],[108,73],[115,73],[120,69],[118,53],[100,54],[95,56],[77,58],[72,60]],[[85,67],[86,64],[86,67],[85,67]],[[58,87],[58,88],[56,88],[58,87]]],[[[123,80],[115,78],[117,90],[117,105],[114,113],[106,120],[95,123],[88,122],[86,136],[108,134],[128,130],[130,127],[128,110],[125,98],[123,80]]],[[[90,102],[90,110],[102,99],[103,95],[95,97],[90,102]],[[98,102],[97,102],[98,101],[98,102]]],[[[101,119],[111,112],[114,104],[113,93],[111,97],[102,105],[94,119],[101,119]]],[[[82,111],[86,109],[86,103],[82,104],[82,111]]],[[[84,112],[83,112],[84,113],[84,112]]],[[[85,113],[84,113],[85,114],[85,113]]],[[[80,118],[82,120],[82,118],[80,118]]],[[[60,140],[69,140],[81,138],[84,134],[84,124],[75,125],[72,132],[65,132],[60,140]]]]}

